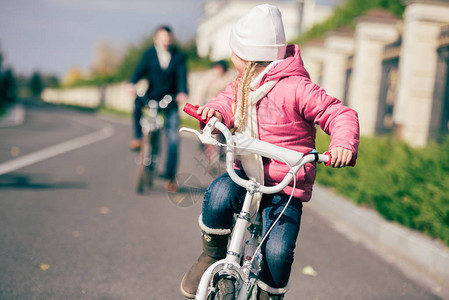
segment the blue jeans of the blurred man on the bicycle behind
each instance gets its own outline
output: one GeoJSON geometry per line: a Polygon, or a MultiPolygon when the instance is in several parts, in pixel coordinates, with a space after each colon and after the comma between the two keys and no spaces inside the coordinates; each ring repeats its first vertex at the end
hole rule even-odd
{"type": "MultiPolygon", "coordinates": [[[[140,118],[142,116],[142,108],[145,104],[140,98],[136,98],[134,106],[134,136],[138,139],[142,138],[142,127],[140,126],[140,118]]],[[[165,164],[164,177],[173,180],[176,176],[178,167],[178,148],[179,148],[179,115],[178,109],[168,108],[165,114],[165,134],[167,140],[167,161],[165,164]]],[[[156,135],[154,135],[156,138],[156,135]]],[[[152,140],[153,143],[153,140],[152,140]]]]}

